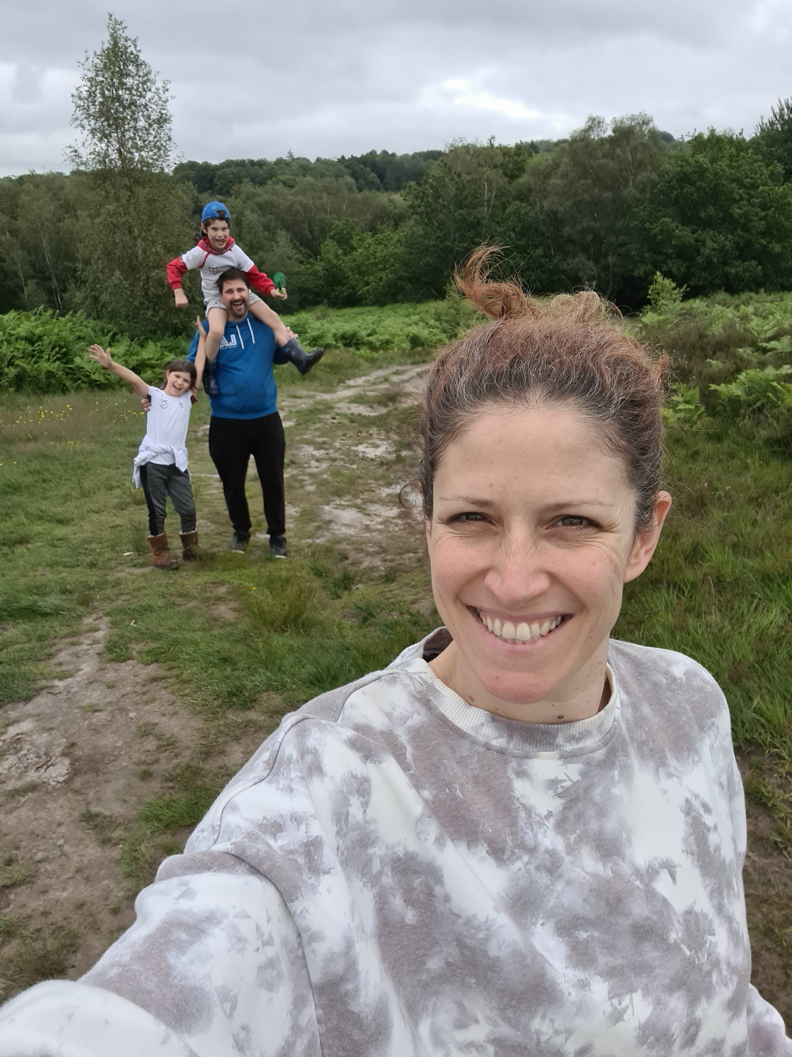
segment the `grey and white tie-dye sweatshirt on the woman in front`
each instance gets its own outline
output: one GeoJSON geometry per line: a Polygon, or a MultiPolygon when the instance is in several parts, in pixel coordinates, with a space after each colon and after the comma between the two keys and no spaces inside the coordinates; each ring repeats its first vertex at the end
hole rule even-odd
{"type": "Polygon", "coordinates": [[[532,725],[440,683],[447,641],[287,716],[1,1057],[792,1055],[712,676],[612,642],[606,707],[532,725]]]}

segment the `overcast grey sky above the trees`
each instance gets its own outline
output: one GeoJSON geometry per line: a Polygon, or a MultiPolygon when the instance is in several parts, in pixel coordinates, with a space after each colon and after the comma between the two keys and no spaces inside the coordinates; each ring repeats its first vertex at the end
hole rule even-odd
{"type": "MultiPolygon", "coordinates": [[[[2,0],[0,173],[62,169],[110,0],[2,0]]],[[[116,0],[187,159],[558,138],[590,113],[753,130],[792,95],[792,0],[116,0]]]]}

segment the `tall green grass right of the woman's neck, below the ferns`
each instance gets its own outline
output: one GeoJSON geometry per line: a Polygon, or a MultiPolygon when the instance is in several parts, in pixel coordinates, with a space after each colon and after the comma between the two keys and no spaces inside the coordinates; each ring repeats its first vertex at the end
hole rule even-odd
{"type": "Polygon", "coordinates": [[[735,740],[792,759],[792,462],[736,428],[677,427],[666,447],[675,505],[615,633],[700,661],[735,740]]]}

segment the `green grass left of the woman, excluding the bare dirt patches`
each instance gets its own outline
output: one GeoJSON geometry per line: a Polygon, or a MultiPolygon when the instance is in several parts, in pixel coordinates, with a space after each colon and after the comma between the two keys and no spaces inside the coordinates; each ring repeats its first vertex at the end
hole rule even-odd
{"type": "MultiPolygon", "coordinates": [[[[426,356],[422,350],[384,352],[376,366],[426,356]]],[[[294,369],[279,371],[279,385],[285,393],[331,391],[371,369],[367,356],[333,352],[307,378],[294,369]]],[[[401,409],[390,408],[377,424],[398,426],[402,419],[401,409]]],[[[191,428],[207,421],[202,401],[191,428]]],[[[183,769],[153,782],[134,827],[88,809],[80,815],[99,842],[121,845],[130,891],[151,879],[164,855],[181,850],[188,828],[230,777],[216,759],[224,737],[239,728],[226,716],[254,708],[256,729],[264,737],[283,711],[388,664],[434,623],[414,605],[426,595],[421,569],[379,582],[378,574],[353,568],[333,546],[298,554],[287,564],[220,551],[170,576],[116,575],[119,567],[148,563],[143,496],[129,480],[143,428],[139,404],[125,392],[0,398],[0,503],[6,512],[0,526],[0,701],[23,699],[55,675],[48,660],[54,648],[106,615],[108,657],[157,662],[206,727],[183,769]],[[233,619],[213,615],[209,602],[221,592],[233,619]],[[380,595],[371,619],[360,607],[380,595]]],[[[145,724],[137,734],[153,753],[169,747],[145,724]]],[[[148,760],[140,774],[151,776],[148,760]]]]}

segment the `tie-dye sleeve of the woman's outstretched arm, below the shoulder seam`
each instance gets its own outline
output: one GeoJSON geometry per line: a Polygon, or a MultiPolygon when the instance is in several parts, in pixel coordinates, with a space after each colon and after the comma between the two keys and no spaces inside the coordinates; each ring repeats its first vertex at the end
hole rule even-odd
{"type": "Polygon", "coordinates": [[[277,888],[225,852],[175,856],[162,873],[80,981],[39,984],[0,1010],[0,1057],[235,1057],[241,1040],[261,1057],[321,1057],[277,888]]]}

